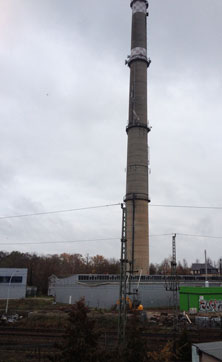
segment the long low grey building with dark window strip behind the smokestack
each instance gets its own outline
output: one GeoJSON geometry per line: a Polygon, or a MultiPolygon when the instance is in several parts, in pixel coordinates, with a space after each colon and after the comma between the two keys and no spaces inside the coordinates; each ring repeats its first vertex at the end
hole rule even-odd
{"type": "MultiPolygon", "coordinates": [[[[139,299],[146,308],[169,307],[173,305],[173,293],[167,288],[172,276],[139,275],[132,277],[132,290],[139,290],[139,299]]],[[[205,278],[193,275],[178,275],[181,286],[202,286],[205,278]]],[[[76,274],[59,278],[53,275],[49,278],[49,295],[59,303],[75,303],[84,297],[89,307],[111,308],[119,299],[119,275],[112,274],[76,274]]],[[[209,284],[220,286],[222,278],[209,284]]],[[[178,293],[179,295],[179,293],[178,293]]],[[[178,298],[179,300],[179,298],[178,298]]]]}

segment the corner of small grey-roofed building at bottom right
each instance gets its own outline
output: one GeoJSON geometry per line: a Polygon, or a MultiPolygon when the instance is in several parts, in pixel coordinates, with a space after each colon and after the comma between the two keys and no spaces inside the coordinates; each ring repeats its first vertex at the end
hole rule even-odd
{"type": "Polygon", "coordinates": [[[192,362],[222,361],[222,342],[198,343],[192,345],[192,362]]]}

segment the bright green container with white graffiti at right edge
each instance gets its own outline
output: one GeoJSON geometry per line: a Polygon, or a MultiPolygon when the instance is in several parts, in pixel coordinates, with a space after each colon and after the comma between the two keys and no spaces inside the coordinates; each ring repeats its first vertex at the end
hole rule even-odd
{"type": "Polygon", "coordinates": [[[180,310],[196,308],[199,312],[222,311],[222,287],[180,287],[180,310]]]}

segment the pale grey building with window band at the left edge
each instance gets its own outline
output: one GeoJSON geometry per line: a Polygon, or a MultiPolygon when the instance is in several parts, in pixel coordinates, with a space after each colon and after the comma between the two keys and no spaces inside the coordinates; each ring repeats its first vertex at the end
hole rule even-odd
{"type": "Polygon", "coordinates": [[[0,268],[0,299],[21,299],[26,296],[28,269],[0,268]]]}

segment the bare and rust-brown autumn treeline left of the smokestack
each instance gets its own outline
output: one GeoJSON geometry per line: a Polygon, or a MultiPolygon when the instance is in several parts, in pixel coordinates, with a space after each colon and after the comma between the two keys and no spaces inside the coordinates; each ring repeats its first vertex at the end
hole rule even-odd
{"type": "Polygon", "coordinates": [[[0,268],[27,268],[27,284],[36,286],[39,294],[47,294],[48,278],[55,274],[66,277],[72,274],[118,274],[119,261],[101,255],[83,257],[81,254],[37,255],[0,251],[0,268]]]}

